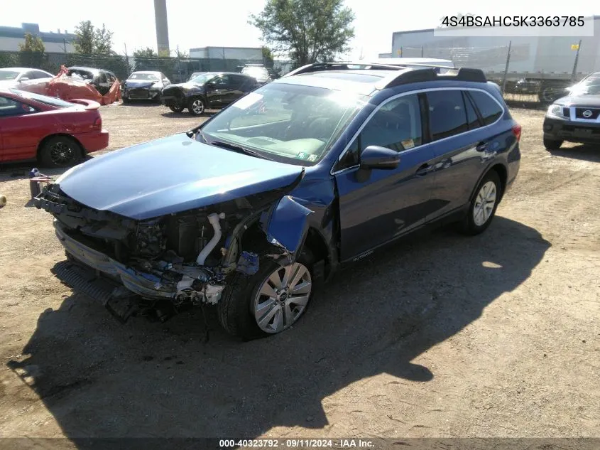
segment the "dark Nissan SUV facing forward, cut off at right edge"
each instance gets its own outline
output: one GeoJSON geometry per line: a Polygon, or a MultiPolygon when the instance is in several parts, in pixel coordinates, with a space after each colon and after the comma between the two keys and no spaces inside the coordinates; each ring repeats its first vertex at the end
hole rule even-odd
{"type": "Polygon", "coordinates": [[[564,141],[600,144],[600,72],[587,75],[569,87],[569,95],[556,100],[544,119],[544,146],[557,150],[564,141]]]}

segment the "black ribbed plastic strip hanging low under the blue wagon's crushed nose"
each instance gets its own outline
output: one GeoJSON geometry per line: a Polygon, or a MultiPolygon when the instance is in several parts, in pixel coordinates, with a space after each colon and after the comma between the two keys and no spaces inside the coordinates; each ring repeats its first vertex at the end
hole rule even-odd
{"type": "Polygon", "coordinates": [[[120,284],[75,261],[62,261],[53,269],[55,276],[75,291],[98,301],[121,323],[140,311],[139,298],[120,284]]]}

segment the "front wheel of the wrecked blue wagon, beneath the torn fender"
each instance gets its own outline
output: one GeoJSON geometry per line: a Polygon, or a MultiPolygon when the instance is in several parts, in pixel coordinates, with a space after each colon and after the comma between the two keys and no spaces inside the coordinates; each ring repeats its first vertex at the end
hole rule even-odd
{"type": "Polygon", "coordinates": [[[236,274],[217,305],[223,328],[245,340],[290,328],[305,313],[312,297],[310,261],[307,252],[286,267],[262,259],[256,274],[236,274]]]}

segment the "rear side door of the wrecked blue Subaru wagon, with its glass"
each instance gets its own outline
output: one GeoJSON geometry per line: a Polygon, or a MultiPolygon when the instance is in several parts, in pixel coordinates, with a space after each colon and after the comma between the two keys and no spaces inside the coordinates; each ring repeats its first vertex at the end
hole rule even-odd
{"type": "Polygon", "coordinates": [[[493,158],[493,149],[499,146],[489,125],[501,117],[503,108],[483,90],[431,90],[426,96],[430,145],[435,154],[432,200],[438,206],[428,218],[432,220],[469,203],[476,183],[493,158]],[[487,119],[476,110],[471,94],[483,98],[493,109],[487,119]]]}

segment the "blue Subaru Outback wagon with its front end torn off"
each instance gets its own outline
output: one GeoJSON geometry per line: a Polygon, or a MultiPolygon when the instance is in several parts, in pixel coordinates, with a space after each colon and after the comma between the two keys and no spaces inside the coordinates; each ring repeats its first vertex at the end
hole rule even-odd
{"type": "Polygon", "coordinates": [[[486,230],[520,132],[481,70],[309,65],[72,168],[36,205],[71,260],[58,276],[121,319],[212,304],[230,333],[268,336],[383,245],[440,221],[486,230]]]}

